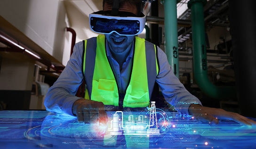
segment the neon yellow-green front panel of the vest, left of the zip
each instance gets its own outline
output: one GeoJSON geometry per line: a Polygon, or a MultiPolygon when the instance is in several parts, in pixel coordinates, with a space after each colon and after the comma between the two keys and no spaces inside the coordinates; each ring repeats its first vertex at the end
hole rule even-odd
{"type": "Polygon", "coordinates": [[[118,87],[105,50],[105,37],[97,37],[91,100],[118,106],[118,87]]]}

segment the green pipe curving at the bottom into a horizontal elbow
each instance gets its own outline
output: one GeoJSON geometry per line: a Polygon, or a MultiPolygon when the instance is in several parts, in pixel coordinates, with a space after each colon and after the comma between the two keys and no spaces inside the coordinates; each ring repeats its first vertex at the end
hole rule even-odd
{"type": "Polygon", "coordinates": [[[218,99],[236,98],[234,87],[215,86],[208,79],[203,13],[203,6],[206,3],[207,0],[190,0],[188,2],[192,16],[194,78],[199,88],[209,97],[218,99]]]}

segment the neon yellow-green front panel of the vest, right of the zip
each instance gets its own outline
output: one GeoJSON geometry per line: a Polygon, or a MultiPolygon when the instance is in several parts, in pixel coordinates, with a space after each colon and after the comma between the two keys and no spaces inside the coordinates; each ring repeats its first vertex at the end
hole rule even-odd
{"type": "Polygon", "coordinates": [[[124,107],[149,105],[145,39],[136,37],[130,83],[124,97],[124,107]]]}

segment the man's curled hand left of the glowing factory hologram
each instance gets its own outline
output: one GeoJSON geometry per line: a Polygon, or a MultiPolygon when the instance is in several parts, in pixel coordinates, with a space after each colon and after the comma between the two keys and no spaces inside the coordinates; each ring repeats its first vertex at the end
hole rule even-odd
{"type": "Polygon", "coordinates": [[[98,120],[101,123],[108,121],[105,106],[102,102],[97,102],[88,99],[78,99],[72,107],[72,112],[77,116],[79,122],[96,123],[98,120]]]}

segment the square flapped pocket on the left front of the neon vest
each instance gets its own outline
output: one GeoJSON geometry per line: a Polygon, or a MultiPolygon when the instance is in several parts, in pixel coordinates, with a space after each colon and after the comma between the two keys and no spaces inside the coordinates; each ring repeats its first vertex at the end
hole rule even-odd
{"type": "Polygon", "coordinates": [[[91,100],[103,102],[105,105],[113,105],[115,80],[99,79],[92,81],[91,100]]]}

